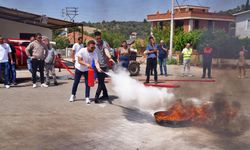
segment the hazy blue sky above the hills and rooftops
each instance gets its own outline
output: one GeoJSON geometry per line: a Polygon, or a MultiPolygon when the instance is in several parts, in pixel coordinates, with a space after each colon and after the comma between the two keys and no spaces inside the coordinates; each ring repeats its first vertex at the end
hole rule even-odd
{"type": "MultiPolygon", "coordinates": [[[[179,5],[202,5],[210,11],[235,8],[246,0],[177,0],[179,5]]],[[[175,0],[175,6],[177,6],[175,0]]],[[[143,21],[148,14],[163,13],[171,7],[171,0],[0,0],[0,6],[21,11],[68,19],[62,15],[66,7],[78,7],[75,22],[143,21]]]]}

